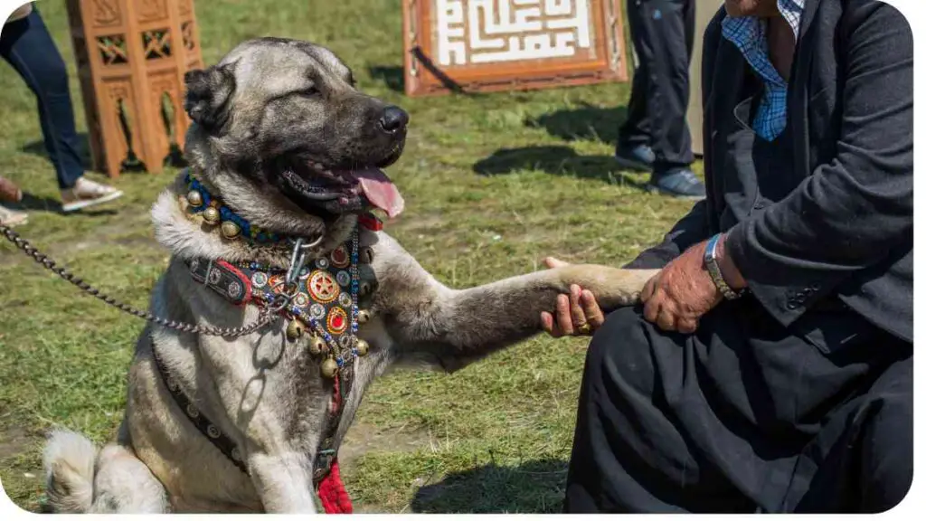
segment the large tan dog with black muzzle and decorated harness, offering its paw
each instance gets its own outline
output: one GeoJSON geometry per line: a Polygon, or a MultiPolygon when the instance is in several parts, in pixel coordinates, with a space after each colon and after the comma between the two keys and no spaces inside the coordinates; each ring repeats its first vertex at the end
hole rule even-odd
{"type": "Polygon", "coordinates": [[[184,82],[190,167],[152,209],[171,258],[149,309],[202,330],[145,327],[106,447],[50,435],[54,512],[319,512],[373,378],[455,371],[540,332],[571,284],[610,310],[655,273],[573,264],[448,288],[369,213],[404,209],[381,169],[408,115],[359,92],[332,51],[250,40],[184,82]]]}

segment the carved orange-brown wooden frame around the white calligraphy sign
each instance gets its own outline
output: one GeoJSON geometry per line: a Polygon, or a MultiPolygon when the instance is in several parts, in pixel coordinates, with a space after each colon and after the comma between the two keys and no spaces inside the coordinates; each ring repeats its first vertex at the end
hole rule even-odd
{"type": "MultiPolygon", "coordinates": [[[[465,1],[464,1],[465,3],[465,1]]],[[[591,58],[557,57],[504,63],[439,66],[435,52],[435,0],[403,0],[405,92],[530,90],[628,80],[627,52],[620,0],[588,0],[593,21],[591,58]]]]}

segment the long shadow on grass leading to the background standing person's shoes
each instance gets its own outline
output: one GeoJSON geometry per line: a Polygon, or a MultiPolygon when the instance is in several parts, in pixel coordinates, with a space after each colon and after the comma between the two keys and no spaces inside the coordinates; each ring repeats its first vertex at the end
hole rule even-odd
{"type": "Polygon", "coordinates": [[[477,161],[472,170],[481,175],[535,170],[645,189],[644,183],[620,172],[618,163],[610,156],[582,156],[570,146],[500,148],[488,158],[477,161]]]}

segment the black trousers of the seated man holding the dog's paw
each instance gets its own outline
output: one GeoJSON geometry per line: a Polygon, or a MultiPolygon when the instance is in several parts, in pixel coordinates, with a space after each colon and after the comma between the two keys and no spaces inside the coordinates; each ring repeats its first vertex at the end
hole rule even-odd
{"type": "Polygon", "coordinates": [[[912,345],[846,309],[751,299],[693,336],[640,309],[589,348],[565,511],[881,512],[913,475],[912,345]]]}

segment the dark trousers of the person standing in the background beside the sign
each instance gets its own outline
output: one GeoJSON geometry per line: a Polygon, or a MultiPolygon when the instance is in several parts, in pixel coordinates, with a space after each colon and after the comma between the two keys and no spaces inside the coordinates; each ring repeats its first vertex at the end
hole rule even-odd
{"type": "Polygon", "coordinates": [[[656,172],[687,167],[694,161],[685,120],[694,0],[627,0],[627,19],[640,63],[619,146],[649,145],[656,172]]]}

